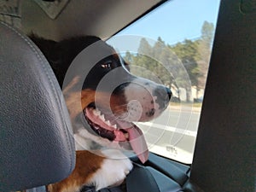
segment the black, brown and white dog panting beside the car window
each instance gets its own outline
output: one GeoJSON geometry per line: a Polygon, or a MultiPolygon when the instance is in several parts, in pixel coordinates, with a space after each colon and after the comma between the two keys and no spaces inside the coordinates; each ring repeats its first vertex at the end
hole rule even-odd
{"type": "Polygon", "coordinates": [[[34,34],[29,37],[49,61],[62,87],[76,146],[72,174],[49,184],[48,191],[119,185],[132,169],[125,150],[137,154],[142,163],[148,160],[143,131],[132,122],[158,117],[169,104],[171,90],[133,76],[128,63],[100,38],[83,36],[55,42],[34,34]],[[102,58],[94,58],[102,52],[102,58]],[[73,63],[87,68],[79,70],[73,63]]]}

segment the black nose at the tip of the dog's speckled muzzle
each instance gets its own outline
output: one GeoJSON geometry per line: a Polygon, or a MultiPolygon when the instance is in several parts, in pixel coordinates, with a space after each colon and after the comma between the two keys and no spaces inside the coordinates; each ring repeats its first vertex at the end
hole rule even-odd
{"type": "Polygon", "coordinates": [[[172,97],[172,91],[165,86],[158,86],[154,90],[154,96],[157,97],[156,101],[160,108],[166,108],[172,97]]]}

